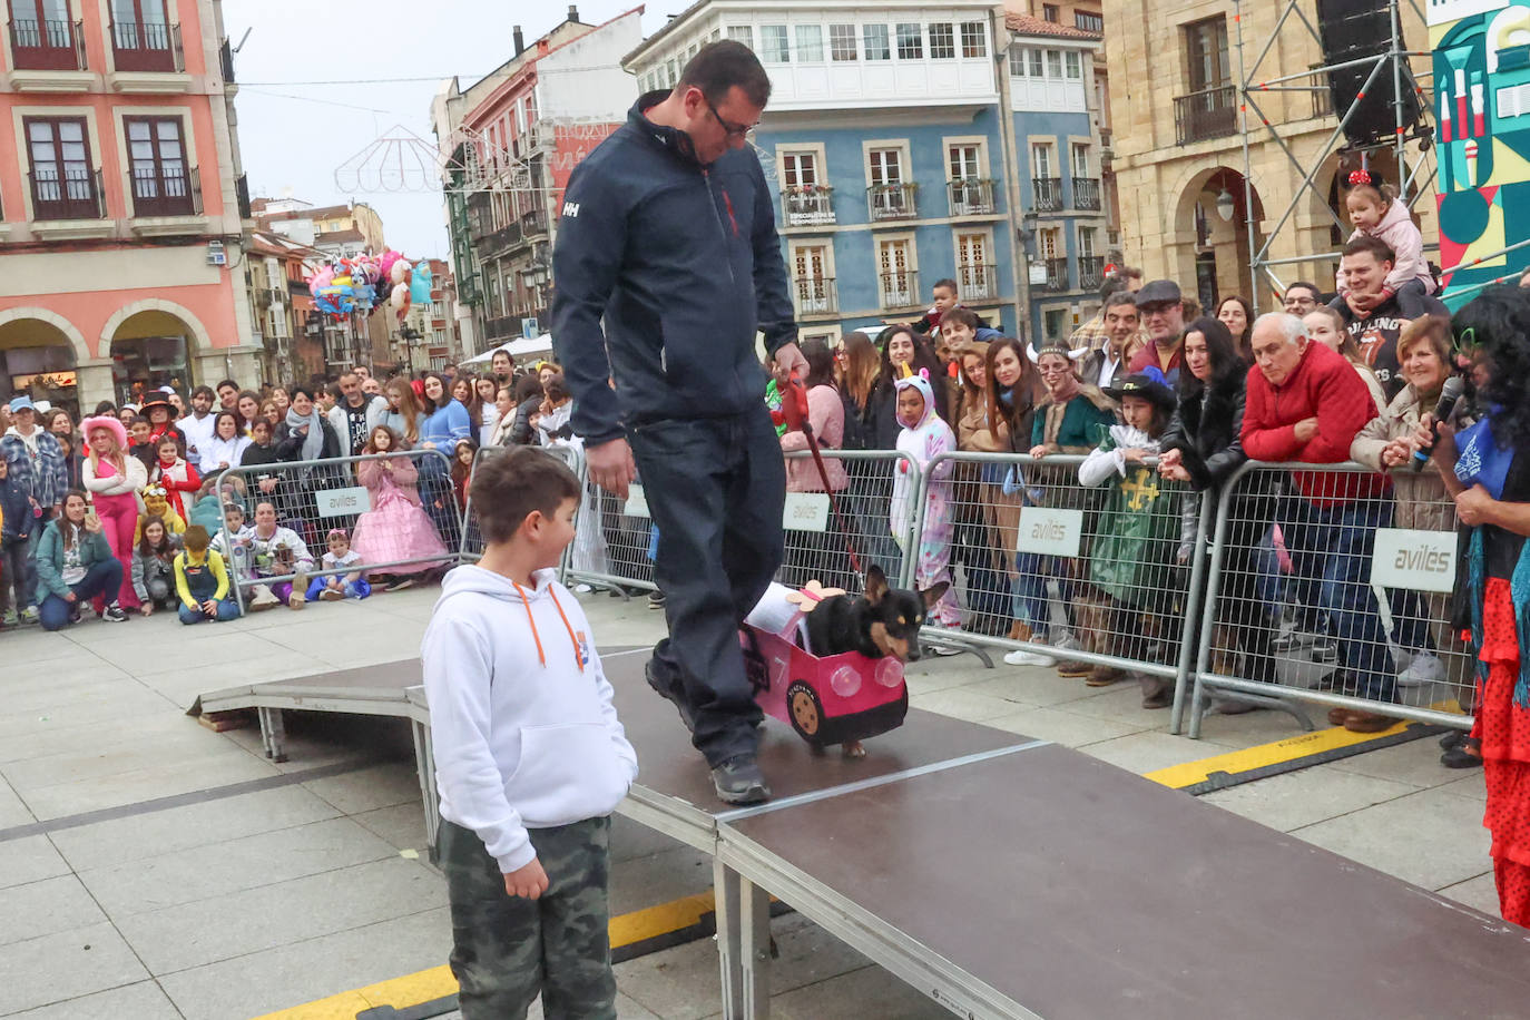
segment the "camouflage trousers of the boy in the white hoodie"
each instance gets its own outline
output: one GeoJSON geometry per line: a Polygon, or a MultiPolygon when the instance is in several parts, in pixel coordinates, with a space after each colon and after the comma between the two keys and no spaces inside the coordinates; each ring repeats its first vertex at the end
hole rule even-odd
{"type": "Polygon", "coordinates": [[[615,1020],[610,971],[610,818],[531,829],[548,873],[539,899],[505,893],[477,833],[442,820],[441,870],[451,901],[451,973],[464,1020],[615,1020]]]}

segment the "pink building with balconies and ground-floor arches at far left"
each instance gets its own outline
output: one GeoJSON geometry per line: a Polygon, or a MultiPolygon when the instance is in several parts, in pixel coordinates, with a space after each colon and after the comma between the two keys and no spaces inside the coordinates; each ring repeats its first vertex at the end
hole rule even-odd
{"type": "Polygon", "coordinates": [[[220,0],[6,0],[0,398],[257,381],[220,0]]]}

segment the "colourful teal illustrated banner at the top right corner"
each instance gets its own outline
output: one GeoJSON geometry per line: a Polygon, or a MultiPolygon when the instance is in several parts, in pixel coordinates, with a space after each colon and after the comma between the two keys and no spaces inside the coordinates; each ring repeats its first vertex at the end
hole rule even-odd
{"type": "Polygon", "coordinates": [[[1530,0],[1427,0],[1426,17],[1440,265],[1460,266],[1443,297],[1455,307],[1530,266],[1530,0]]]}

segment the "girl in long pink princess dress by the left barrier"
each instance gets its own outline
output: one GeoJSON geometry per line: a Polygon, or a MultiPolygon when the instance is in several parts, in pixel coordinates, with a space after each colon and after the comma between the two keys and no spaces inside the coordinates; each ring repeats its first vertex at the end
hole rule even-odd
{"type": "Polygon", "coordinates": [[[372,509],[356,518],[356,531],[350,540],[350,547],[361,554],[363,563],[399,563],[382,572],[370,572],[373,581],[382,581],[389,592],[409,587],[413,584],[412,578],[447,566],[447,547],[419,503],[419,491],[415,488],[419,471],[415,462],[409,457],[378,456],[398,450],[398,433],[387,425],[378,425],[367,434],[367,445],[361,451],[366,459],[356,462],[356,480],[367,488],[372,509]],[[428,558],[436,555],[442,558],[428,558]],[[419,563],[401,563],[402,560],[419,563]]]}

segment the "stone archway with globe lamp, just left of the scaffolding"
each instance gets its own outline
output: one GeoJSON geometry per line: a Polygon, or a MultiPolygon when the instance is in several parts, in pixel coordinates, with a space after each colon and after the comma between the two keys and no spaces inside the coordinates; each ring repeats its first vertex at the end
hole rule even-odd
{"type": "MultiPolygon", "coordinates": [[[[1253,222],[1264,222],[1259,193],[1244,188],[1244,176],[1229,167],[1198,173],[1180,196],[1178,229],[1195,234],[1195,297],[1212,313],[1218,301],[1233,294],[1253,298],[1250,252],[1264,243],[1248,236],[1248,199],[1253,222]]],[[[1187,281],[1181,281],[1181,286],[1187,281]]],[[[1189,289],[1189,287],[1186,287],[1189,289]]]]}

